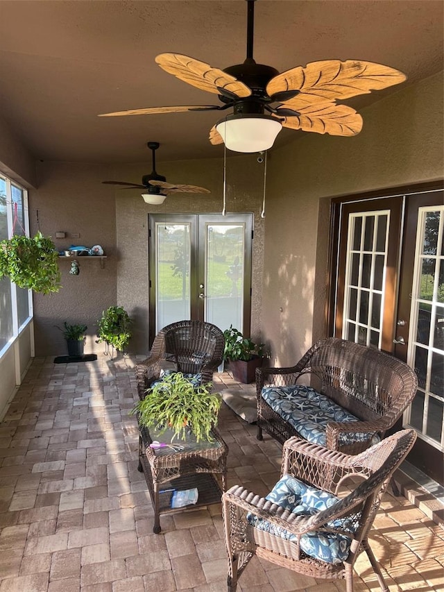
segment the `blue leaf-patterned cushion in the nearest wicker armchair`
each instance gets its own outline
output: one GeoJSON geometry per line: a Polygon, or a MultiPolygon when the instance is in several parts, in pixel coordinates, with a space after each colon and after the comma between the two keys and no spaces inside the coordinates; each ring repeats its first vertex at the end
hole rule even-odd
{"type": "MultiPolygon", "coordinates": [[[[291,477],[291,475],[284,475],[275,484],[271,493],[268,493],[266,499],[299,516],[313,516],[338,501],[338,498],[332,493],[309,487],[309,485],[291,477]]],[[[294,534],[284,528],[272,525],[264,518],[257,518],[254,514],[249,513],[247,519],[251,525],[259,528],[259,530],[264,530],[274,536],[280,536],[287,541],[296,541],[294,534]]],[[[333,521],[329,526],[334,528],[336,521],[333,521]]],[[[355,526],[341,521],[341,530],[353,532],[355,526]]],[[[348,558],[350,543],[350,537],[336,532],[307,532],[300,537],[300,549],[303,552],[310,557],[331,564],[341,563],[341,561],[348,558]]]]}

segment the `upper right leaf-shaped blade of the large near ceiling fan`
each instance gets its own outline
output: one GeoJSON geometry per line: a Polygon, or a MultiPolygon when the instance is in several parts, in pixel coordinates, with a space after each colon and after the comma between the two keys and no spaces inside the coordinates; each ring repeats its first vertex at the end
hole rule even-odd
{"type": "Polygon", "coordinates": [[[266,92],[273,96],[282,91],[299,90],[332,101],[382,90],[405,80],[406,76],[402,72],[382,64],[359,60],[323,60],[278,74],[268,83],[266,92]]]}

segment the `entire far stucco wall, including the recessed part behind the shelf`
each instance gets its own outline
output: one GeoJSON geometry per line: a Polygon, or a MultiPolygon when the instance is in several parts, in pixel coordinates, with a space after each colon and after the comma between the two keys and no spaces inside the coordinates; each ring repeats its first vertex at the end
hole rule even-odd
{"type": "MultiPolygon", "coordinates": [[[[102,185],[102,180],[135,180],[151,171],[144,163],[105,167],[99,164],[44,162],[38,165],[38,190],[30,192],[31,231],[37,228],[53,237],[57,248],[69,244],[100,244],[108,255],[99,261],[78,257],[80,275],[69,274],[70,261],[60,260],[62,289],[57,294],[34,295],[36,355],[65,355],[66,345],[54,325],[86,323],[85,353],[103,352],[96,344],[96,321],[110,305],[126,308],[135,320],[128,350],[148,352],[148,212],[222,211],[223,162],[157,163],[167,180],[207,187],[209,196],[169,196],[162,206],[147,205],[139,190],[102,185]],[[56,239],[56,231],[67,232],[56,239]],[[73,238],[74,233],[80,238],[73,238]]],[[[260,218],[263,165],[255,155],[230,158],[227,164],[227,212],[253,212],[253,305],[251,334],[260,339],[264,220],[260,218]],[[258,174],[259,173],[259,174],[258,174]]]]}

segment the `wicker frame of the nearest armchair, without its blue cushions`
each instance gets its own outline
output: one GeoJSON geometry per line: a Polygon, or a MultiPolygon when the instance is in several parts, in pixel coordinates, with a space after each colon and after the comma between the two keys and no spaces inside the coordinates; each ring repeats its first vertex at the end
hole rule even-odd
{"type": "MultiPolygon", "coordinates": [[[[375,571],[379,586],[388,592],[381,568],[368,543],[368,532],[382,500],[382,495],[396,468],[407,456],[416,440],[413,430],[402,430],[368,448],[359,455],[345,455],[327,450],[298,438],[284,444],[281,475],[290,474],[318,489],[335,495],[352,484],[351,493],[341,497],[331,507],[314,516],[297,516],[289,510],[256,496],[241,486],[234,486],[222,496],[225,544],[228,552],[228,591],[235,592],[239,575],[253,555],[273,564],[316,578],[345,579],[347,592],[353,592],[353,566],[365,551],[375,571]],[[361,478],[359,485],[355,484],[361,478]],[[362,480],[364,479],[364,480],[362,480]],[[248,522],[255,514],[269,523],[282,527],[296,536],[287,541],[264,532],[248,522]],[[306,532],[343,533],[342,525],[357,524],[348,558],[339,564],[314,559],[300,549],[300,537],[306,532]]],[[[349,489],[349,491],[350,491],[349,489]]]]}

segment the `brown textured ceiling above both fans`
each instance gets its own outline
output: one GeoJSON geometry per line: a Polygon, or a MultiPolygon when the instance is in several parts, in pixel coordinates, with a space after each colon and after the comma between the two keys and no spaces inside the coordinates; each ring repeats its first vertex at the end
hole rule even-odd
{"type": "MultiPolygon", "coordinates": [[[[257,0],[254,58],[284,71],[325,59],[382,63],[409,85],[443,69],[441,0],[257,0]]],[[[225,68],[246,57],[245,0],[0,0],[0,117],[35,158],[83,162],[219,157],[215,112],[99,113],[211,105],[214,94],[160,69],[158,53],[225,68]]],[[[400,87],[349,99],[356,109],[400,87]]],[[[366,125],[364,117],[364,126],[366,125]]],[[[275,145],[304,132],[283,130],[275,145]]]]}

